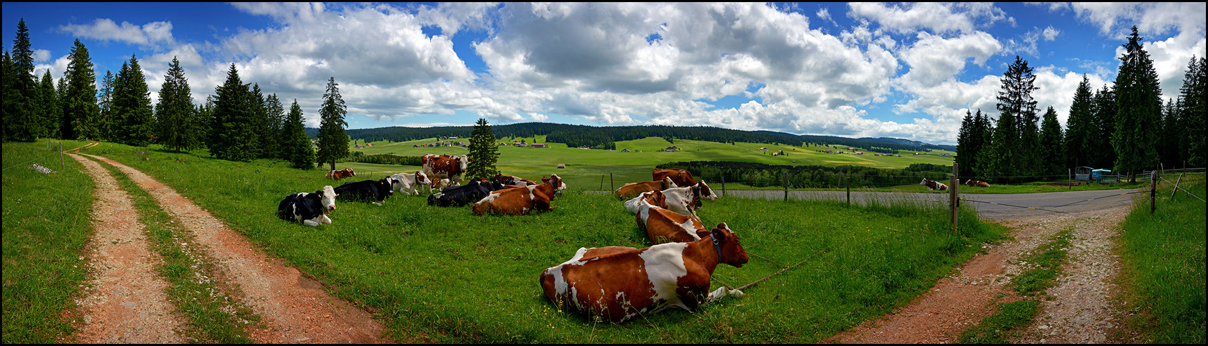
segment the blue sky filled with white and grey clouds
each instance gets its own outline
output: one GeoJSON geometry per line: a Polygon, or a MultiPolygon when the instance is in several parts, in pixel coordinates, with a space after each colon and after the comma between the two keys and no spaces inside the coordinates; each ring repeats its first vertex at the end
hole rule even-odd
{"type": "Polygon", "coordinates": [[[1129,28],[1175,96],[1204,57],[1203,2],[263,4],[4,2],[36,74],[72,41],[98,80],[133,54],[152,100],[180,59],[196,102],[233,63],[308,125],[327,78],[349,128],[551,122],[713,125],[953,145],[966,110],[997,116],[1018,55],[1064,123],[1074,89],[1115,80],[1129,28]]]}

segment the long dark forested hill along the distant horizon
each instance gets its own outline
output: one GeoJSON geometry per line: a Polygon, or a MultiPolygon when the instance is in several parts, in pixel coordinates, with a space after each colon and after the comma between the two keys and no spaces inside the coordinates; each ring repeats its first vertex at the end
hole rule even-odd
{"type": "MultiPolygon", "coordinates": [[[[802,143],[819,143],[902,151],[919,151],[928,148],[954,149],[952,146],[937,146],[901,139],[848,139],[837,136],[794,135],[776,131],[744,131],[715,127],[588,127],[553,123],[517,123],[492,125],[490,130],[496,137],[529,137],[544,135],[546,136],[545,140],[547,142],[567,143],[569,147],[592,147],[605,149],[615,149],[615,142],[617,141],[638,140],[644,137],[663,137],[673,143],[674,140],[679,139],[722,143],[754,142],[783,143],[792,146],[800,146],[802,143]]],[[[389,127],[344,130],[344,133],[353,140],[366,141],[412,141],[439,136],[470,137],[471,131],[474,131],[474,127],[470,125],[434,128],[389,127]]],[[[312,137],[315,133],[318,133],[318,129],[307,129],[307,135],[310,135],[312,137]]]]}

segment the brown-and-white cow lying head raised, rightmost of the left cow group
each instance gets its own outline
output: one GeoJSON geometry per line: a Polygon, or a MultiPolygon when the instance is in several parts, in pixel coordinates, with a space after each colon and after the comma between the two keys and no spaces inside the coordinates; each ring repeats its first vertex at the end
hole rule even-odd
{"type": "Polygon", "coordinates": [[[550,201],[558,199],[557,192],[562,183],[558,175],[550,175],[541,184],[505,188],[493,190],[474,204],[474,213],[525,215],[534,210],[550,211],[550,201]]]}

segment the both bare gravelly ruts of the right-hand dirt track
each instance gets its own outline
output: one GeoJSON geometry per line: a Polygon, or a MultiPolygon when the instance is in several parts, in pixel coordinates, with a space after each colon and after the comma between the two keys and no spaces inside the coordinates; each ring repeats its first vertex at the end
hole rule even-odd
{"type": "Polygon", "coordinates": [[[987,253],[970,259],[940,280],[930,292],[881,318],[843,330],[820,342],[949,344],[960,333],[995,312],[994,303],[1017,300],[1011,278],[1023,271],[1026,257],[1057,233],[1073,227],[1064,275],[1041,299],[1043,311],[1018,342],[1103,342],[1119,322],[1110,304],[1119,272],[1111,237],[1131,206],[1079,213],[1016,217],[1001,221],[1014,240],[985,245],[987,253]],[[1000,298],[1001,297],[1001,298],[1000,298]]]}

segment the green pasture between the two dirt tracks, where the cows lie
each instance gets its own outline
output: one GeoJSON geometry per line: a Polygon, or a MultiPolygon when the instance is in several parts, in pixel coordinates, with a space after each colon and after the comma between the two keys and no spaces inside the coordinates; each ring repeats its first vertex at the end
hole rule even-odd
{"type": "MultiPolygon", "coordinates": [[[[692,313],[593,323],[558,311],[541,297],[540,272],[580,247],[649,244],[621,201],[574,190],[569,178],[573,190],[553,203],[556,210],[540,215],[481,217],[469,207],[431,207],[422,197],[400,195],[381,207],[342,203],[333,224],[310,228],[274,213],[286,194],[330,184],[318,170],[112,143],[87,152],[157,177],[268,253],[321,280],[333,295],[373,306],[400,340],[813,342],[906,304],[980,251],[982,242],[1003,234],[1001,227],[981,223],[969,209],[962,210],[962,228],[953,231],[941,207],[888,200],[850,209],[825,201],[707,201],[701,210],[705,223],[726,222],[753,254],[741,269],[718,268],[715,276],[727,283],[749,283],[783,269],[780,264],[821,252],[745,289],[744,298],[722,299],[692,313]],[[150,160],[138,151],[146,151],[150,160]]],[[[603,158],[594,159],[599,169],[606,168],[603,158]]]]}

